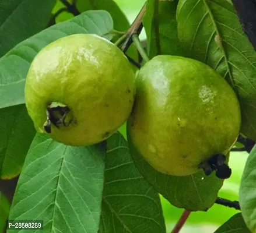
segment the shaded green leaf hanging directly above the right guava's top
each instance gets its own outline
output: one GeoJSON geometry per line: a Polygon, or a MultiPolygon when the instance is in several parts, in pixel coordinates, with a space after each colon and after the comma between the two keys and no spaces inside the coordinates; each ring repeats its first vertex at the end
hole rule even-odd
{"type": "Polygon", "coordinates": [[[148,38],[150,58],[159,54],[183,54],[177,32],[177,4],[178,0],[149,0],[147,2],[143,26],[148,38]]]}

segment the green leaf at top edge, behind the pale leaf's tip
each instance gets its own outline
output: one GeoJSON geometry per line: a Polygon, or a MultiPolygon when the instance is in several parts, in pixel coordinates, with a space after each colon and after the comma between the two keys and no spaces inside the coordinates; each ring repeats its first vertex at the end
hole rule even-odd
{"type": "Polygon", "coordinates": [[[77,0],[76,7],[80,12],[85,12],[86,10],[106,10],[112,16],[115,30],[125,31],[129,27],[127,17],[113,0],[77,0]]]}

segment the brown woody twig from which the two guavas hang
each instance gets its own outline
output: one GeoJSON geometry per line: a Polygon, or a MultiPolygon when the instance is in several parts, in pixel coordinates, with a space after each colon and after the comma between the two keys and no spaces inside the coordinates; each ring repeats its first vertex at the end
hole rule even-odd
{"type": "Polygon", "coordinates": [[[142,7],[141,11],[139,12],[138,16],[136,17],[136,19],[134,20],[134,22],[131,24],[131,26],[129,27],[129,29],[126,32],[127,38],[121,47],[121,50],[123,52],[127,52],[129,46],[132,44],[132,36],[134,34],[139,35],[141,33],[141,30],[143,28],[142,18],[143,18],[145,11],[146,11],[146,2],[143,5],[143,7],[142,7]]]}

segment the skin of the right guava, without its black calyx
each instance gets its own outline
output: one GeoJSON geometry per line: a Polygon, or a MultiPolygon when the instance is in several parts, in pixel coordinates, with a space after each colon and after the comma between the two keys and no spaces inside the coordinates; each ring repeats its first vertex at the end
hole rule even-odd
{"type": "Polygon", "coordinates": [[[155,170],[174,176],[202,171],[203,161],[227,154],[240,125],[236,94],[204,63],[158,55],[139,70],[127,139],[155,170]]]}

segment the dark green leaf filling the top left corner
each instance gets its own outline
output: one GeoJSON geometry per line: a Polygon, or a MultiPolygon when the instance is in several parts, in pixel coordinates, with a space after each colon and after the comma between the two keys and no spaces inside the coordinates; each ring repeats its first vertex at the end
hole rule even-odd
{"type": "Polygon", "coordinates": [[[0,57],[12,47],[43,30],[51,17],[54,0],[1,1],[0,57]]]}

